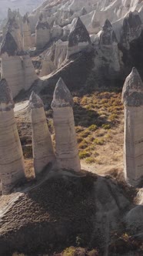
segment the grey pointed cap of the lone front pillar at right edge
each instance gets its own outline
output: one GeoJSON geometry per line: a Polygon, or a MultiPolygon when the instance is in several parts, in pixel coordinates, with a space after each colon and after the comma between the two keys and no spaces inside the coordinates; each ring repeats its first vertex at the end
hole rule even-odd
{"type": "Polygon", "coordinates": [[[121,101],[127,106],[143,105],[143,83],[135,68],[125,79],[121,101]]]}

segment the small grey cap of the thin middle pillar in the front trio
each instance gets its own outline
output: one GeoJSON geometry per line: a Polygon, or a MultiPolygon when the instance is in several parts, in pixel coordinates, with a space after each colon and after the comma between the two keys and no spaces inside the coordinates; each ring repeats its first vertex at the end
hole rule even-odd
{"type": "Polygon", "coordinates": [[[40,109],[41,107],[44,107],[42,99],[34,91],[32,91],[32,94],[29,98],[28,106],[31,109],[40,109]]]}

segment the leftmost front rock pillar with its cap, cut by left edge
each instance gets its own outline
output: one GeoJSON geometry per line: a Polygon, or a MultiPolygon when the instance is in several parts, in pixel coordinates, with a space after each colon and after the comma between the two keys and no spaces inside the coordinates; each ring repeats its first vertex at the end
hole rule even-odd
{"type": "Polygon", "coordinates": [[[0,177],[2,193],[8,194],[25,177],[22,146],[14,116],[12,93],[5,79],[0,81],[0,177]]]}

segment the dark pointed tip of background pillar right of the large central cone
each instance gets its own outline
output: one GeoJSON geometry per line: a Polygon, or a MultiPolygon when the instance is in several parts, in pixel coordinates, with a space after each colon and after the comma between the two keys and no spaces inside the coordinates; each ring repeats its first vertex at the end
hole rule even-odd
{"type": "Polygon", "coordinates": [[[111,22],[108,19],[105,20],[105,24],[102,26],[99,43],[101,45],[112,45],[114,42],[118,42],[115,32],[112,28],[111,22]]]}

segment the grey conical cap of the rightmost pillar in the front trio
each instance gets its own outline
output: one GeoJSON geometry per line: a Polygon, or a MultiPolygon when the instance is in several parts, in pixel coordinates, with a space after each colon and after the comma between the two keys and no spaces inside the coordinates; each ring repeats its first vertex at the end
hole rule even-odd
{"type": "Polygon", "coordinates": [[[68,87],[65,86],[62,78],[58,80],[55,86],[55,92],[52,100],[52,108],[62,108],[66,106],[73,106],[73,99],[68,87]]]}

